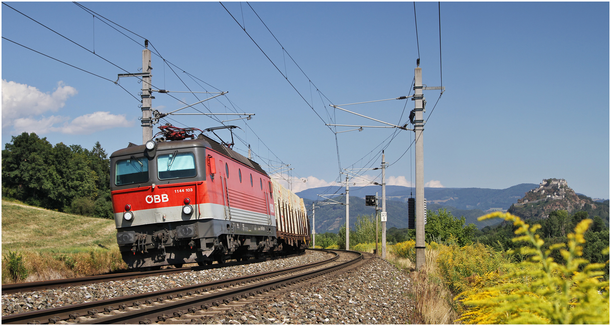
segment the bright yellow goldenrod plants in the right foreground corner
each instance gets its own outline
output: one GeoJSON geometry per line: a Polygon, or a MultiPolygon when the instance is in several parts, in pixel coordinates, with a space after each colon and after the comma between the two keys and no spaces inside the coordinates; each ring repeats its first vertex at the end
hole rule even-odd
{"type": "Polygon", "coordinates": [[[543,250],[544,241],[535,234],[540,224],[531,227],[519,217],[500,212],[480,220],[495,217],[518,226],[519,236],[513,242],[527,242],[516,250],[526,259],[511,264],[510,272],[502,276],[503,284],[463,292],[466,297],[461,301],[467,311],[459,320],[469,324],[609,324],[609,281],[601,281],[604,272],[600,271],[605,264],[588,264],[579,272],[579,265],[588,263],[580,258],[579,244],[585,243],[584,232],[592,220],[580,221],[574,233],[567,235],[568,250],[564,243],[543,250]],[[554,262],[554,250],[560,250],[564,265],[554,262]]]}

